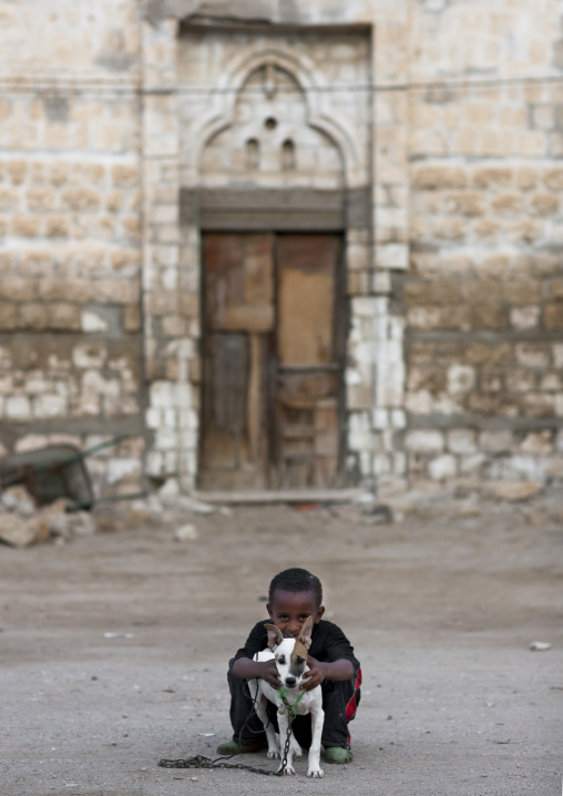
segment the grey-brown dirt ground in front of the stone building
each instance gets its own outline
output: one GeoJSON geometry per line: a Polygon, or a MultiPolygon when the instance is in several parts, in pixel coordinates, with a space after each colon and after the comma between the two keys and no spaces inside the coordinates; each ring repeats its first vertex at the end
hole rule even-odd
{"type": "Polygon", "coordinates": [[[395,522],[355,506],[168,511],[0,548],[0,795],[559,796],[562,493],[410,508],[395,522]],[[186,521],[198,540],[174,541],[186,521]],[[229,737],[227,661],[293,565],[320,576],[362,664],[354,763],[320,780],[305,758],[283,779],[158,767],[229,737]]]}

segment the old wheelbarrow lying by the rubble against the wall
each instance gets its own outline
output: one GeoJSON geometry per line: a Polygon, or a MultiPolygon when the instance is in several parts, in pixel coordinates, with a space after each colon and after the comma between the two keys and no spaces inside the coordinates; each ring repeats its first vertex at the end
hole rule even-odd
{"type": "Polygon", "coordinates": [[[73,445],[51,445],[7,456],[0,459],[0,492],[22,484],[38,506],[68,498],[76,509],[86,510],[101,501],[145,498],[146,492],[95,498],[92,489],[84,459],[127,438],[129,435],[114,437],[86,450],[80,450],[73,445]]]}

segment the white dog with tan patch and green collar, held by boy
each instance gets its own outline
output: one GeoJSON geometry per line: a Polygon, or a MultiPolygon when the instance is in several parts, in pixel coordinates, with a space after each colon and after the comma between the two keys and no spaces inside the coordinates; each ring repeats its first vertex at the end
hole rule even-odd
{"type": "MultiPolygon", "coordinates": [[[[299,691],[299,686],[304,682],[303,675],[309,671],[307,666],[307,651],[310,646],[310,635],[313,631],[313,616],[309,616],[304,623],[297,639],[284,639],[279,627],[274,624],[266,624],[268,631],[268,649],[257,652],[254,656],[255,661],[276,660],[276,666],[283,687],[286,690],[286,698],[290,705],[299,700],[296,713],[311,716],[311,744],[309,748],[308,777],[323,777],[325,772],[320,767],[320,737],[323,735],[323,724],[325,721],[325,712],[323,710],[323,692],[320,685],[310,691],[299,691]]],[[[305,678],[305,682],[307,680],[305,678]]],[[[282,757],[287,737],[287,725],[289,722],[288,710],[278,692],[269,685],[265,680],[256,678],[248,682],[250,696],[256,705],[256,713],[264,724],[266,736],[268,738],[268,757],[282,757]],[[266,713],[266,700],[273,702],[278,711],[279,736],[276,736],[275,729],[268,720],[266,713]]],[[[301,747],[291,733],[289,751],[287,753],[287,764],[284,774],[295,774],[293,767],[293,756],[301,755],[301,747]]],[[[282,766],[280,766],[282,768],[282,766]]],[[[278,769],[279,771],[279,769],[278,769]]]]}

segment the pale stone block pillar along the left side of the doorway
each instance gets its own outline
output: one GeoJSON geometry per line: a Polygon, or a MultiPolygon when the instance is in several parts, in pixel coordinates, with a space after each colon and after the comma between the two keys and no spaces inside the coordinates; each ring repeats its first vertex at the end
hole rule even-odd
{"type": "Polygon", "coordinates": [[[146,423],[153,432],[147,473],[196,474],[197,411],[190,360],[198,335],[197,302],[180,258],[180,139],[175,21],[143,23],[143,308],[150,382],[146,423]]]}

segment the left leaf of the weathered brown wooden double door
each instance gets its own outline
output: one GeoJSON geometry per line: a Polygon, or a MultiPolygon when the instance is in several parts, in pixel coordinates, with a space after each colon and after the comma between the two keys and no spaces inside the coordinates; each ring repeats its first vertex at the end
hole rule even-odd
{"type": "Polygon", "coordinates": [[[267,487],[273,299],[272,235],[204,236],[203,489],[267,487]]]}

